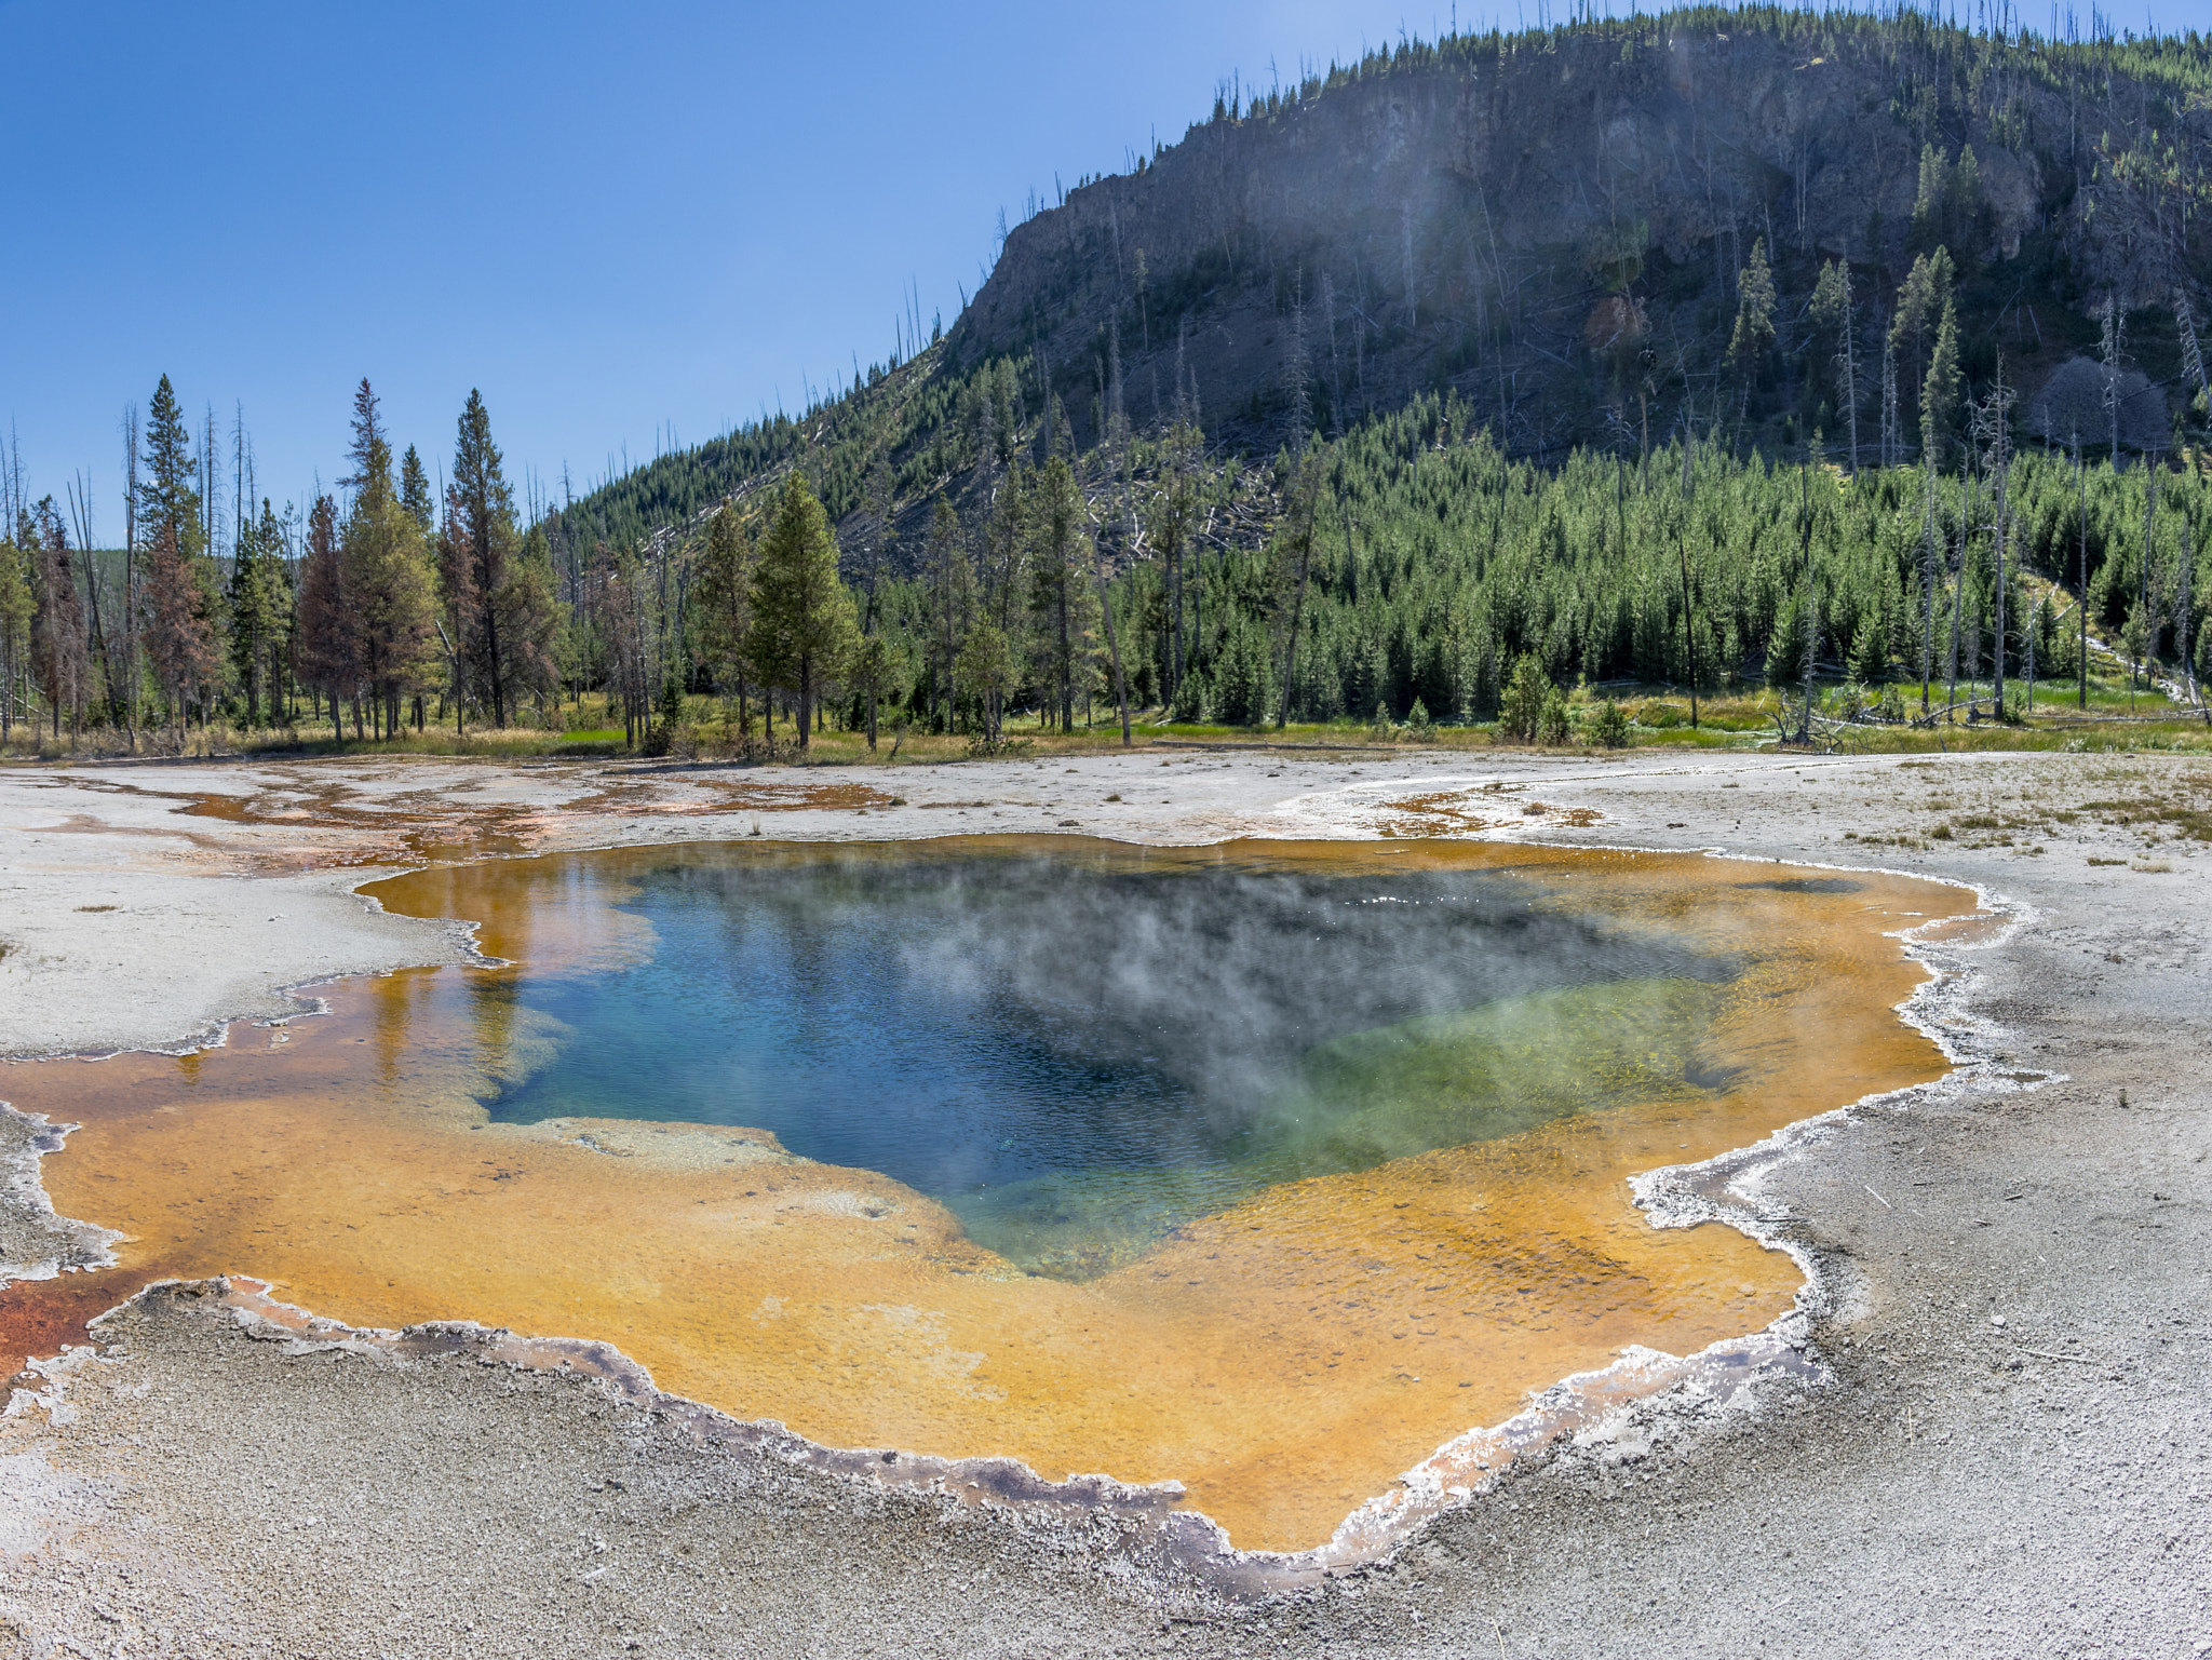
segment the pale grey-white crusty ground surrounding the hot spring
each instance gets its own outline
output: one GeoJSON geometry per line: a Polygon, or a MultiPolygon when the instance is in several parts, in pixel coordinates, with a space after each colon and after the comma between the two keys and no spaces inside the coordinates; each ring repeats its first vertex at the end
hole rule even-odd
{"type": "MultiPolygon", "coordinates": [[[[754,817],[770,837],[1066,819],[1144,841],[1360,834],[1376,799],[1498,777],[1528,786],[1515,806],[1604,815],[1584,830],[1522,815],[1515,834],[1880,863],[1984,885],[2028,921],[1953,958],[1960,1040],[1984,1065],[1840,1120],[1763,1177],[1759,1204],[1814,1248],[1843,1310],[1814,1321],[1823,1381],[1776,1381],[1730,1412],[1661,1399],[1314,1591],[1225,1605],[1130,1574],[1082,1529],[699,1450],[584,1381],[294,1355],[208,1297],[161,1297],[0,1423],[0,1653],[2212,1651],[2212,848],[2148,845],[2121,808],[2013,830],[2013,845],[1971,845],[1995,830],[1845,839],[2203,790],[2203,761],[1139,753],[1066,768],[838,772],[907,797],[865,819],[699,815],[728,775],[681,770],[0,770],[0,1054],[177,1045],[279,1011],[301,981],[465,950],[372,914],[347,894],[361,872],[283,874],[303,848],[387,845],[374,823],[179,819],[155,790],[343,781],[361,817],[449,797],[507,810],[535,848],[580,848],[745,834],[754,817]],[[2008,1067],[2064,1078],[2020,1089],[2008,1067]]],[[[35,1193],[7,1204],[0,1257],[82,1248],[35,1193]]]]}

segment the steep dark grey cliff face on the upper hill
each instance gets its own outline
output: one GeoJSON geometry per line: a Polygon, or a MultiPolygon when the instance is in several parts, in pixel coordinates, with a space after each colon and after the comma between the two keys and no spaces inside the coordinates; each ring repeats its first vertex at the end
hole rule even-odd
{"type": "Polygon", "coordinates": [[[1029,219],[951,347],[1040,354],[1077,443],[1117,403],[1144,427],[1181,394],[1210,434],[1272,447],[1301,396],[1327,429],[1442,387],[1515,452],[1686,403],[1792,432],[1825,416],[1836,436],[1836,390],[1803,347],[1820,261],[1843,259],[1865,445],[1882,317],[1940,241],[1969,378],[2002,350],[2026,414],[2108,292],[2161,308],[2130,328],[2170,352],[2174,294],[2205,263],[2205,113],[2174,75],[2117,60],[1767,13],[1409,49],[1217,115],[1029,219]],[[1781,341],[1743,398],[1723,356],[1754,241],[1781,341]]]}

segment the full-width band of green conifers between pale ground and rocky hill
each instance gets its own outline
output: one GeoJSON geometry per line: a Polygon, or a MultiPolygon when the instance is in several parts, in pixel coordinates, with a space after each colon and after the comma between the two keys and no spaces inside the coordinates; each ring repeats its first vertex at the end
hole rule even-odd
{"type": "Polygon", "coordinates": [[[434,500],[363,383],[343,500],[261,502],[219,553],[164,381],[131,544],[71,547],[51,498],[0,544],[4,713],[55,737],[175,744],[221,719],[374,739],[557,728],[564,699],[604,693],[630,741],[710,697],[745,737],[781,710],[799,741],[836,719],[993,744],[1013,710],[1495,719],[1528,664],[1942,706],[1960,679],[2070,679],[2088,633],[2194,686],[2201,452],[2084,460],[2020,447],[2008,414],[1995,381],[1920,458],[1858,471],[1818,445],[1736,456],[1725,423],[1544,469],[1449,396],[1270,465],[1183,423],[1079,456],[1048,418],[1000,443],[984,405],[969,511],[938,491],[902,529],[878,463],[841,538],[801,447],[692,536],[577,558],[557,509],[518,525],[482,398],[434,500]]]}

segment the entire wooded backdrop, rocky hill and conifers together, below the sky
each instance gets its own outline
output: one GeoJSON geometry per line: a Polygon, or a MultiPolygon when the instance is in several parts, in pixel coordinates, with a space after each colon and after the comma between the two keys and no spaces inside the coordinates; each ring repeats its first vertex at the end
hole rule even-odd
{"type": "Polygon", "coordinates": [[[1590,18],[1228,86],[951,325],[557,500],[480,396],[392,434],[367,381],[274,500],[148,365],[122,502],[0,458],[0,741],[2185,719],[2208,155],[2197,35],[1590,18]]]}

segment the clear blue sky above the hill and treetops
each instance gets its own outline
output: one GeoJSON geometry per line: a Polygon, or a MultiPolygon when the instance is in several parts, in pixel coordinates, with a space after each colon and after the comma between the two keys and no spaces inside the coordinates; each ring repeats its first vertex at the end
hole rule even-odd
{"type": "Polygon", "coordinates": [[[1219,80],[1449,20],[0,0],[0,423],[33,494],[91,476],[104,542],[122,412],[164,372],[195,421],[215,405],[226,454],[243,405],[279,505],[343,474],[363,374],[434,467],[482,387],[511,476],[557,496],[566,465],[582,491],[885,356],[909,281],[949,323],[1000,208],[1181,137],[1219,80]]]}

